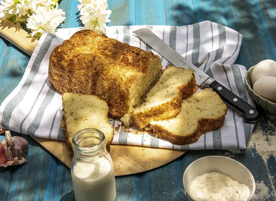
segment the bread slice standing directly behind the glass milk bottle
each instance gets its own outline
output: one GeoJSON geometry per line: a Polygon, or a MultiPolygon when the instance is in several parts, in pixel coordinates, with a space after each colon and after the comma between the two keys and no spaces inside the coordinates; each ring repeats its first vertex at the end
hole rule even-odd
{"type": "Polygon", "coordinates": [[[85,128],[96,128],[105,135],[106,147],[113,140],[113,127],[108,122],[108,106],[104,100],[93,96],[80,93],[63,93],[62,106],[64,119],[62,122],[65,131],[65,139],[71,155],[72,138],[74,135],[85,128]]]}

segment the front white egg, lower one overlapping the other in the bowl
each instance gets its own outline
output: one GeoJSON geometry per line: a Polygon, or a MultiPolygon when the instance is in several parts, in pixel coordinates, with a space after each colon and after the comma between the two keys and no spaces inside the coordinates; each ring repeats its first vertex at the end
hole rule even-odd
{"type": "Polygon", "coordinates": [[[266,76],[258,79],[253,85],[253,90],[261,97],[276,102],[276,77],[266,76]]]}

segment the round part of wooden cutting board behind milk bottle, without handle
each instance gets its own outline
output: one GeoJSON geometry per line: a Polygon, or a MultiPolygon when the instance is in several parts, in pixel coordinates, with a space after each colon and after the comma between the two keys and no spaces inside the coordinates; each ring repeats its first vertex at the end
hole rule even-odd
{"type": "MultiPolygon", "coordinates": [[[[72,158],[65,142],[46,138],[33,138],[65,165],[69,168],[71,167],[72,158]]],[[[129,145],[110,145],[108,151],[114,163],[115,176],[140,173],[157,168],[173,161],[186,152],[185,150],[129,145]]]]}

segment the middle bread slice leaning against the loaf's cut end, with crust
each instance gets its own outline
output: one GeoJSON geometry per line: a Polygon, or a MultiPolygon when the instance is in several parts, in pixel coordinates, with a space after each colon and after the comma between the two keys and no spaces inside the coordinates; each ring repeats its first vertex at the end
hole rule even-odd
{"type": "Polygon", "coordinates": [[[145,102],[134,109],[132,119],[142,129],[151,119],[161,120],[174,116],[180,111],[182,100],[196,91],[192,70],[167,66],[159,81],[147,94],[145,102]]]}

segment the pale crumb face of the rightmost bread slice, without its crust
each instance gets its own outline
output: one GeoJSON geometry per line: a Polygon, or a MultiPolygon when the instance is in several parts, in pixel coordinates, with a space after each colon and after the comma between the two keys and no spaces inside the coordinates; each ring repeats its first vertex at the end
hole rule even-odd
{"type": "Polygon", "coordinates": [[[180,112],[173,117],[160,121],[151,121],[151,125],[159,126],[171,135],[189,136],[197,130],[201,119],[217,119],[225,116],[227,106],[212,89],[204,89],[200,93],[183,100],[180,112]]]}

